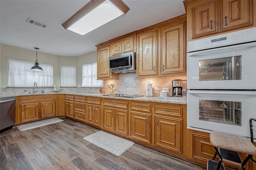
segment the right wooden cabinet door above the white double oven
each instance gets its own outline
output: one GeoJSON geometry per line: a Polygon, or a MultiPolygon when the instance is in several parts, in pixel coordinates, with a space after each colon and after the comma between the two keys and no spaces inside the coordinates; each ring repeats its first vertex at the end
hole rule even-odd
{"type": "Polygon", "coordinates": [[[220,0],[220,31],[252,25],[252,0],[220,0]]]}

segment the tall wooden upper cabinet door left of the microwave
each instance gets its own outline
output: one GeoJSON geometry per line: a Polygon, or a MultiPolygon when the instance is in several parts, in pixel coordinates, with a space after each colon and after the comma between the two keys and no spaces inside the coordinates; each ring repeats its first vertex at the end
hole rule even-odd
{"type": "Polygon", "coordinates": [[[110,46],[97,49],[97,78],[110,78],[109,58],[110,46]]]}

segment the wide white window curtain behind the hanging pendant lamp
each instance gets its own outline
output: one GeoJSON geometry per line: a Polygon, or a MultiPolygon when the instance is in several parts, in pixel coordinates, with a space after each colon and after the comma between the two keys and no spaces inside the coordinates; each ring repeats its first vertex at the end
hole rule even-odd
{"type": "Polygon", "coordinates": [[[43,71],[34,71],[30,68],[33,62],[8,59],[8,87],[32,87],[34,82],[41,87],[53,85],[53,66],[42,64],[43,71]]]}

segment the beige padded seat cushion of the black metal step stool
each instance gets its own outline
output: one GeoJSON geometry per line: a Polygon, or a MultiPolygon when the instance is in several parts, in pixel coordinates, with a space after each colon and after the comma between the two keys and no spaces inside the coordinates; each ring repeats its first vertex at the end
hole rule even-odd
{"type": "Polygon", "coordinates": [[[210,133],[210,141],[212,145],[217,148],[256,155],[256,147],[247,137],[219,131],[212,131],[210,133]]]}

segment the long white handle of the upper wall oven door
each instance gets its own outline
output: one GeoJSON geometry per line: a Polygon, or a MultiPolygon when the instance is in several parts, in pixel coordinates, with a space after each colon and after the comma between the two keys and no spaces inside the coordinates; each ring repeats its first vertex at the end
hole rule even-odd
{"type": "Polygon", "coordinates": [[[228,47],[208,49],[208,50],[203,50],[203,51],[196,51],[194,53],[188,53],[188,56],[191,57],[191,56],[198,55],[198,54],[212,53],[212,52],[216,52],[216,51],[219,52],[219,51],[232,50],[232,49],[238,49],[238,48],[249,48],[249,47],[256,47],[256,42],[233,45],[233,46],[228,46],[228,47]]]}

